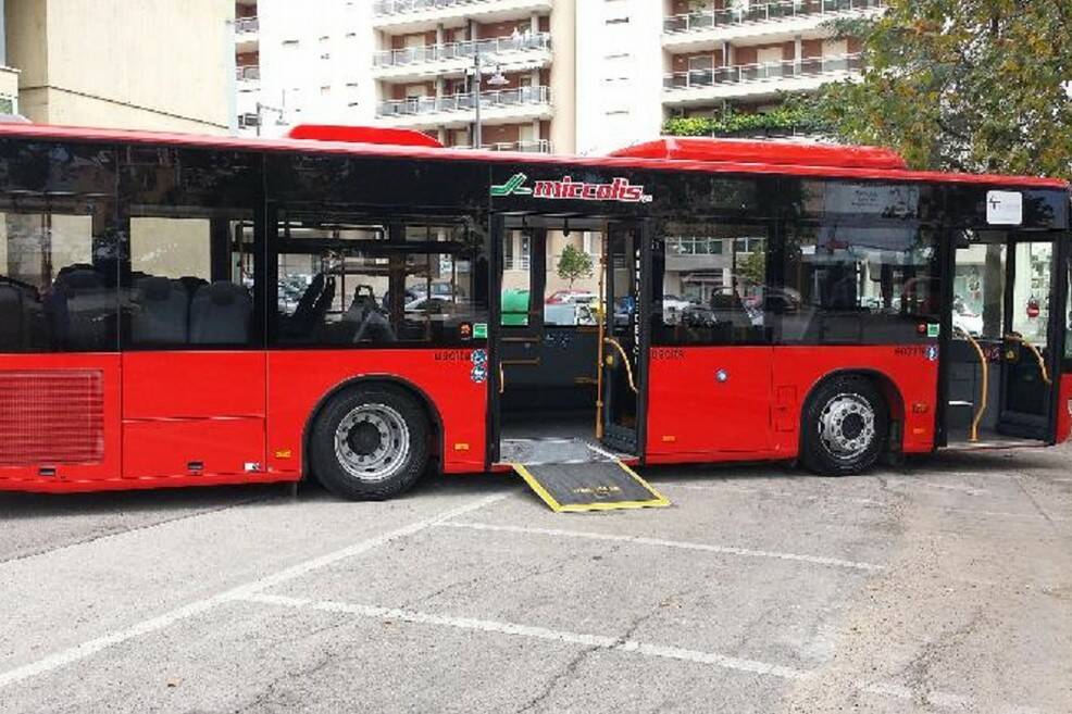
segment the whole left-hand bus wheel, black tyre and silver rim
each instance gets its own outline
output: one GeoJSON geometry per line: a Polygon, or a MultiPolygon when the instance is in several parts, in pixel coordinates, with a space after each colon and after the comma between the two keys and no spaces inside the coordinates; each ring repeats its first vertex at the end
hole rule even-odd
{"type": "Polygon", "coordinates": [[[316,417],[309,459],[321,484],[340,498],[398,496],[428,464],[428,419],[400,389],[348,389],[333,397],[316,417]]]}

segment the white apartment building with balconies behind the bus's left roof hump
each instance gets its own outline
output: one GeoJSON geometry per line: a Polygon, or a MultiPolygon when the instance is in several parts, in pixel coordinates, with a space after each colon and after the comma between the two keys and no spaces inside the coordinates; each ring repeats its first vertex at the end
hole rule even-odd
{"type": "Polygon", "coordinates": [[[309,121],[378,123],[471,147],[479,111],[486,148],[574,151],[574,4],[336,0],[310,13],[239,1],[239,126],[271,136],[309,121]]]}

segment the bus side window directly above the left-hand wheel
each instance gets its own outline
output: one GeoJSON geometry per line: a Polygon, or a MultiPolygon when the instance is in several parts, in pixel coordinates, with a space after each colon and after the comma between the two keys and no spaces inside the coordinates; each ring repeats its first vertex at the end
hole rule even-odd
{"type": "Polygon", "coordinates": [[[277,236],[276,342],[465,342],[487,321],[483,237],[464,222],[294,214],[277,236]]]}

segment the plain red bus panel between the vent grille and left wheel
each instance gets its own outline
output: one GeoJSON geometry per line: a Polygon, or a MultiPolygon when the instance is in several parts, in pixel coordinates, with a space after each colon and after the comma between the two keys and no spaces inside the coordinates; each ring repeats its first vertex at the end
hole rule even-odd
{"type": "Polygon", "coordinates": [[[123,355],[123,476],[255,476],[264,465],[265,354],[123,355]]]}

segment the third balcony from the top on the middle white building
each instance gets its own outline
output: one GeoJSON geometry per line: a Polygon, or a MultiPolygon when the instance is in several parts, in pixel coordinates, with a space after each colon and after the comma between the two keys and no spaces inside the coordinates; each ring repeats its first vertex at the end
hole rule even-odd
{"type": "MultiPolygon", "coordinates": [[[[481,92],[481,120],[487,123],[551,118],[548,87],[519,87],[481,92]]],[[[420,97],[381,102],[376,118],[407,128],[464,127],[476,121],[473,93],[420,97]]]]}

